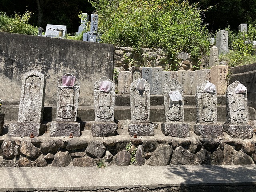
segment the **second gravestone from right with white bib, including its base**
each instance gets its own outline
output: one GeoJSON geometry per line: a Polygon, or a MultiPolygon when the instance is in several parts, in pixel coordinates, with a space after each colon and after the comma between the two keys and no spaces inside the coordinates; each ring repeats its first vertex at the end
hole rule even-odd
{"type": "Polygon", "coordinates": [[[223,136],[222,126],[217,123],[216,86],[205,80],[196,87],[196,125],[194,132],[202,138],[223,136]]]}

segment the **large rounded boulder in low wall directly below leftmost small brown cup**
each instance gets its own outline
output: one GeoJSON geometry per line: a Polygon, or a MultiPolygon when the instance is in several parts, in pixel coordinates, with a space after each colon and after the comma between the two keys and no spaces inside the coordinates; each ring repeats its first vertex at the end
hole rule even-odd
{"type": "Polygon", "coordinates": [[[32,143],[29,141],[21,142],[20,152],[30,158],[37,158],[42,154],[41,150],[32,145],[32,143]]]}

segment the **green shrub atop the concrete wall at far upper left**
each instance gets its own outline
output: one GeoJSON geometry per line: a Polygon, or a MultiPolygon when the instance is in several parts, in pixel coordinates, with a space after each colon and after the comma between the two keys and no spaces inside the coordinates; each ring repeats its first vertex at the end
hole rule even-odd
{"type": "Polygon", "coordinates": [[[28,24],[32,14],[26,10],[22,16],[15,13],[12,18],[8,17],[5,12],[0,12],[0,32],[37,35],[38,28],[28,24]]]}

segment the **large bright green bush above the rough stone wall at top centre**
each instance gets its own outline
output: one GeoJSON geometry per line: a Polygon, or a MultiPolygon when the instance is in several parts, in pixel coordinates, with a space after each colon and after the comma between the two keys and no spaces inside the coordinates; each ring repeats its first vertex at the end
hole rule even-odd
{"type": "MultiPolygon", "coordinates": [[[[186,51],[198,61],[209,48],[208,32],[197,4],[176,0],[89,0],[99,14],[103,43],[163,48],[170,61],[186,51]]],[[[172,68],[175,67],[171,66],[172,68]]]]}

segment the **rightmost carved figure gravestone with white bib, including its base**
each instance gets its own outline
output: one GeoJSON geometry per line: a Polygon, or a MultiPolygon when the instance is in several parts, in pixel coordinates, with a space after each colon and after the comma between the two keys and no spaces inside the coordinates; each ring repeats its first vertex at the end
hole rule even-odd
{"type": "Polygon", "coordinates": [[[230,84],[226,92],[227,124],[223,129],[234,138],[252,138],[254,126],[247,124],[247,88],[239,81],[230,84]]]}

